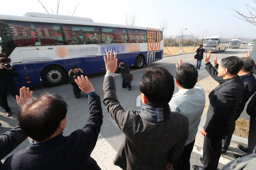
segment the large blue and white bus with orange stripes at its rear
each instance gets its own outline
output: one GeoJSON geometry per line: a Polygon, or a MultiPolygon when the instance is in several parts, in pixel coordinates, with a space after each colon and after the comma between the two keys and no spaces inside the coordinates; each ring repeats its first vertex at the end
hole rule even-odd
{"type": "Polygon", "coordinates": [[[85,75],[105,72],[103,56],[112,50],[126,65],[142,68],[161,60],[161,29],[95,23],[92,19],[56,14],[0,15],[2,49],[17,69],[17,86],[41,81],[58,86],[73,65],[85,75]]]}

